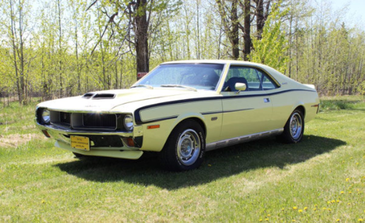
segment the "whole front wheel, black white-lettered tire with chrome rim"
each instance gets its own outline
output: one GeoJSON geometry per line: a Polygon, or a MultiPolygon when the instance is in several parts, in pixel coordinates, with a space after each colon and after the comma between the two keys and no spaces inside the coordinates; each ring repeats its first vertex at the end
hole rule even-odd
{"type": "Polygon", "coordinates": [[[160,163],[169,171],[196,169],[203,162],[205,134],[193,120],[178,124],[171,132],[162,151],[160,163]]]}

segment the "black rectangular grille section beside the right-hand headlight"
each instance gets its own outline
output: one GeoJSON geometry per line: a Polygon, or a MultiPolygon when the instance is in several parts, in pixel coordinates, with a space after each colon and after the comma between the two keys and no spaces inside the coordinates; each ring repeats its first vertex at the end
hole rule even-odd
{"type": "Polygon", "coordinates": [[[86,128],[116,129],[115,114],[82,114],[83,125],[86,128]]]}

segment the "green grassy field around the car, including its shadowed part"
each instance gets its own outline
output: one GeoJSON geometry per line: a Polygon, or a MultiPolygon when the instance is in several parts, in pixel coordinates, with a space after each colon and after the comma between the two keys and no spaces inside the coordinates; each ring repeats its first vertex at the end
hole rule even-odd
{"type": "Polygon", "coordinates": [[[323,98],[301,143],[274,138],[162,171],[156,159],[79,160],[34,128],[34,105],[0,109],[0,222],[361,222],[365,102],[323,98]]]}

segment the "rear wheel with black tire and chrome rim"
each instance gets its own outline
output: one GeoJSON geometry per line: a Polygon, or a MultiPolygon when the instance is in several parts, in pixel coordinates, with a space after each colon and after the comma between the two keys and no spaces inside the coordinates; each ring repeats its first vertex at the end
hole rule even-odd
{"type": "Polygon", "coordinates": [[[297,143],[303,138],[304,116],[303,111],[295,109],[284,126],[281,139],[286,143],[297,143]]]}

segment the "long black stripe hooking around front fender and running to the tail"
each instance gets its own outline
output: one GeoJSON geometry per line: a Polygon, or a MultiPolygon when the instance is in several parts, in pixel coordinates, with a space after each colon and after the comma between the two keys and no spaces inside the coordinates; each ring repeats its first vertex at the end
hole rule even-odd
{"type": "MultiPolygon", "coordinates": [[[[139,112],[141,110],[149,109],[151,107],[160,107],[160,106],[164,106],[164,105],[173,105],[173,104],[196,102],[196,101],[211,101],[211,100],[217,100],[217,99],[223,100],[223,99],[234,99],[234,98],[262,97],[262,96],[269,96],[269,95],[275,95],[275,94],[282,94],[282,93],[286,93],[286,92],[290,92],[290,91],[312,91],[312,92],[317,92],[316,90],[307,90],[307,89],[289,89],[289,90],[283,90],[283,91],[278,91],[278,92],[273,92],[273,93],[266,93],[266,94],[247,94],[247,95],[230,95],[230,96],[216,96],[216,97],[205,97],[205,98],[181,99],[181,100],[177,100],[177,101],[161,102],[161,103],[156,103],[156,104],[153,104],[153,105],[146,105],[146,106],[140,107],[139,109],[136,109],[134,111],[134,118],[135,118],[135,122],[136,122],[137,125],[142,125],[142,124],[145,124],[145,123],[155,122],[155,120],[144,122],[144,121],[141,120],[141,116],[139,115],[139,112]]],[[[172,118],[168,117],[167,119],[172,119],[172,118]]],[[[161,119],[156,119],[156,120],[157,121],[162,121],[162,120],[166,120],[166,119],[161,118],[161,119]]]]}

